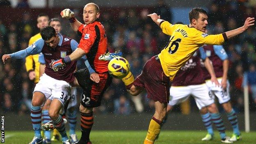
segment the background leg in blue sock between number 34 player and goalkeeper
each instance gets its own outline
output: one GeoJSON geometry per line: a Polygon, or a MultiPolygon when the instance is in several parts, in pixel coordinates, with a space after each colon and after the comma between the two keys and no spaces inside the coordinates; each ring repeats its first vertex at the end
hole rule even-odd
{"type": "Polygon", "coordinates": [[[67,109],[67,119],[69,122],[69,137],[71,142],[78,142],[77,135],[75,134],[75,125],[76,125],[76,117],[77,117],[77,88],[72,87],[71,89],[71,100],[69,102],[69,106],[67,109]]]}

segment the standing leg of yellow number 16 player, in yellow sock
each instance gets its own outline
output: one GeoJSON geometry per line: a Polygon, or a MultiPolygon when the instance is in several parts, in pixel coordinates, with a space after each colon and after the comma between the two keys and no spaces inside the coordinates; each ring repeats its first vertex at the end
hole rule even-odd
{"type": "Polygon", "coordinates": [[[166,116],[167,103],[155,102],[155,114],[153,115],[150,123],[149,130],[144,140],[144,144],[153,144],[155,139],[160,133],[162,121],[166,116]]]}

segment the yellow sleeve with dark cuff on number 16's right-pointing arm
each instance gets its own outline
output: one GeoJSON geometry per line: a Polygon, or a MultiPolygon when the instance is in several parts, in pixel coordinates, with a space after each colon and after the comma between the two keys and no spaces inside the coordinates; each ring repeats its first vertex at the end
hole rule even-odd
{"type": "Polygon", "coordinates": [[[194,43],[203,46],[203,44],[208,45],[222,45],[225,41],[226,34],[206,34],[200,31],[194,32],[194,37],[192,38],[192,41],[194,43]]]}

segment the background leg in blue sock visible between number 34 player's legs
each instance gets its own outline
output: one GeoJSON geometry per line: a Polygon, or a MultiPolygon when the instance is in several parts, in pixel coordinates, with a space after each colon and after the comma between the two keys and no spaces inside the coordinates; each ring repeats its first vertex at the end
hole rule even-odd
{"type": "MultiPolygon", "coordinates": [[[[42,107],[42,122],[43,123],[48,123],[49,121],[51,121],[50,117],[49,117],[49,107],[50,107],[50,103],[51,101],[49,99],[46,100],[46,103],[44,104],[44,106],[42,107]]],[[[48,130],[44,130],[44,139],[43,139],[43,144],[50,144],[50,132],[48,130]]]]}

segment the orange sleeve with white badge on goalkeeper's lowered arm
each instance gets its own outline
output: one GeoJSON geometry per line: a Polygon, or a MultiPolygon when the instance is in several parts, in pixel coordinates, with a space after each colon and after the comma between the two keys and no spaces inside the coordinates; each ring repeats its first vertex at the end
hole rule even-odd
{"type": "Polygon", "coordinates": [[[89,27],[85,27],[83,30],[83,37],[80,40],[78,48],[82,48],[85,53],[89,53],[91,46],[94,44],[96,39],[96,31],[94,25],[90,25],[89,27]]]}

